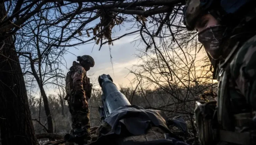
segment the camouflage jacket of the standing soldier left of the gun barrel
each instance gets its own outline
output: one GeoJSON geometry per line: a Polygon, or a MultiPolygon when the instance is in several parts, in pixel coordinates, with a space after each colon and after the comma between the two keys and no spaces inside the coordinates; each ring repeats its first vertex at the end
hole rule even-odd
{"type": "Polygon", "coordinates": [[[81,99],[85,98],[86,100],[88,100],[88,98],[85,96],[85,92],[86,85],[89,83],[85,69],[82,67],[81,64],[79,64],[76,61],[73,61],[73,66],[70,67],[70,71],[71,78],[73,80],[73,89],[75,95],[81,97],[81,99]]]}

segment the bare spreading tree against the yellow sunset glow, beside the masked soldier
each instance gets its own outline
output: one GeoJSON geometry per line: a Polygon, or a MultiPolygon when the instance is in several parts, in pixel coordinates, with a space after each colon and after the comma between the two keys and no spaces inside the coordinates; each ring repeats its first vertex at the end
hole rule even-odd
{"type": "MultiPolygon", "coordinates": [[[[145,108],[163,110],[168,118],[182,116],[189,122],[191,134],[196,139],[193,124],[195,101],[216,98],[217,83],[212,80],[210,61],[200,51],[202,45],[197,42],[196,33],[183,28],[172,28],[172,25],[179,26],[182,22],[180,7],[177,7],[176,11],[178,12],[165,15],[176,19],[168,21],[169,24],[161,30],[157,29],[156,33],[156,25],[152,25],[152,32],[148,28],[141,29],[141,39],[147,47],[139,50],[137,57],[140,63],[135,65],[136,71],[130,72],[136,76],[134,82],[137,84],[137,91],[141,91],[147,100],[145,108]],[[158,40],[154,35],[158,35],[158,40]],[[152,99],[147,98],[147,94],[156,94],[153,98],[156,102],[150,102],[152,99]]],[[[141,40],[136,40],[138,41],[141,40]]]]}

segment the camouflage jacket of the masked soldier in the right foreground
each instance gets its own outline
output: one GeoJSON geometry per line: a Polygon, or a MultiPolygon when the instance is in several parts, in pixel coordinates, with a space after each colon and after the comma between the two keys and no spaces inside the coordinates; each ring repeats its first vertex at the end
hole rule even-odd
{"type": "MultiPolygon", "coordinates": [[[[236,35],[229,41],[232,50],[219,65],[218,75],[217,118],[221,129],[244,133],[235,135],[225,132],[227,134],[222,136],[226,137],[224,141],[240,142],[238,144],[250,142],[249,132],[255,129],[253,118],[256,111],[256,11],[254,16],[244,20],[250,23],[243,22],[245,25],[234,30],[238,33],[235,32],[236,35]]],[[[255,141],[255,138],[252,140],[255,141]]]]}

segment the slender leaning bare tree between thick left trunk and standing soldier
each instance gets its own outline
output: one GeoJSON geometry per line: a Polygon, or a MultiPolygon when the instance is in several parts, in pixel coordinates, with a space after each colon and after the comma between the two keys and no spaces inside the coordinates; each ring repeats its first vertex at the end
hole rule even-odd
{"type": "MultiPolygon", "coordinates": [[[[29,28],[27,30],[29,30],[29,28]]],[[[38,27],[35,29],[37,32],[40,32],[38,27]]],[[[33,30],[31,29],[30,32],[33,32],[33,30]]],[[[24,35],[24,33],[22,34],[24,35]]],[[[21,35],[20,37],[21,39],[17,42],[17,46],[19,46],[20,50],[25,52],[18,52],[18,54],[20,56],[20,61],[24,62],[22,69],[26,78],[27,89],[30,88],[30,91],[33,91],[31,85],[33,84],[33,81],[36,81],[44,102],[44,109],[48,122],[47,132],[53,133],[53,119],[44,86],[51,87],[54,85],[55,87],[64,87],[62,79],[65,78],[65,75],[63,75],[63,71],[60,69],[63,51],[62,49],[52,48],[51,46],[44,46],[39,42],[41,36],[36,36],[34,39],[31,38],[32,40],[26,35],[21,35]],[[33,77],[31,77],[31,75],[33,77]]],[[[41,116],[38,117],[39,122],[40,117],[41,116]]]]}

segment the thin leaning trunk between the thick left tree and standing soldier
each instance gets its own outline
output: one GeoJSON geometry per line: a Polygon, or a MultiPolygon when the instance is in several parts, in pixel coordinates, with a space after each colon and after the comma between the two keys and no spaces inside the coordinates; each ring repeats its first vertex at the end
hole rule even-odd
{"type": "Polygon", "coordinates": [[[53,119],[52,119],[52,114],[51,114],[51,110],[50,110],[49,103],[48,103],[48,98],[47,98],[47,95],[45,94],[45,91],[44,91],[44,88],[43,88],[43,85],[42,85],[43,84],[42,80],[40,80],[40,78],[37,75],[37,72],[36,72],[36,69],[35,69],[35,66],[34,66],[34,62],[31,58],[31,56],[30,56],[30,66],[31,66],[32,73],[33,73],[34,77],[36,78],[36,81],[37,81],[37,84],[39,86],[41,95],[43,97],[44,110],[45,110],[45,114],[47,116],[47,125],[48,125],[47,132],[48,133],[53,133],[53,119]]]}

